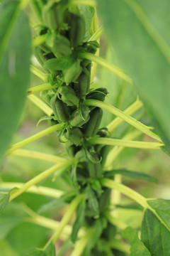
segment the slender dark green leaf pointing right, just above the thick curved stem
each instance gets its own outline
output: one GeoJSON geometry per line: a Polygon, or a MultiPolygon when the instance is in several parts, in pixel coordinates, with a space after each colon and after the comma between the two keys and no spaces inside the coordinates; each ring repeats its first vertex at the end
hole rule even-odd
{"type": "Polygon", "coordinates": [[[118,169],[118,170],[112,170],[112,171],[105,171],[105,174],[108,176],[115,175],[115,174],[121,174],[123,176],[127,176],[130,178],[138,178],[138,179],[142,179],[144,181],[158,183],[157,178],[154,178],[148,174],[143,174],[142,172],[138,172],[138,171],[128,171],[125,169],[118,169]]]}

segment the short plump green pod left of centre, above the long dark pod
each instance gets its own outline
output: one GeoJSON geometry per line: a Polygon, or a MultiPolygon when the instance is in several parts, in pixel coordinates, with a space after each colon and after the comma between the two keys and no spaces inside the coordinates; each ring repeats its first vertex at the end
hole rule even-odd
{"type": "Polygon", "coordinates": [[[62,95],[62,101],[68,106],[74,106],[79,104],[79,97],[77,93],[70,86],[60,87],[60,94],[62,95]]]}

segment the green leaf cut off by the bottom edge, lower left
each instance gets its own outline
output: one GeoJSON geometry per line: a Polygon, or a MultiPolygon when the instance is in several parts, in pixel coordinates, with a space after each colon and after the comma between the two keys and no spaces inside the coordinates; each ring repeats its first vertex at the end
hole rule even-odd
{"type": "Polygon", "coordinates": [[[46,250],[30,249],[28,252],[24,253],[22,256],[55,256],[55,245],[50,243],[46,250]]]}

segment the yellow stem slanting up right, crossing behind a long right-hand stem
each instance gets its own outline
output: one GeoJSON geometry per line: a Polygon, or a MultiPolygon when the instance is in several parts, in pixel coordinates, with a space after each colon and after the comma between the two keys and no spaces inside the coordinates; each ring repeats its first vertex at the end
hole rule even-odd
{"type": "MultiPolygon", "coordinates": [[[[130,105],[125,111],[123,111],[125,114],[132,115],[134,112],[140,109],[142,107],[142,102],[140,100],[136,100],[132,105],[130,105]]],[[[109,132],[113,132],[121,123],[123,122],[123,119],[120,117],[115,117],[115,119],[107,125],[107,129],[109,132]]]]}

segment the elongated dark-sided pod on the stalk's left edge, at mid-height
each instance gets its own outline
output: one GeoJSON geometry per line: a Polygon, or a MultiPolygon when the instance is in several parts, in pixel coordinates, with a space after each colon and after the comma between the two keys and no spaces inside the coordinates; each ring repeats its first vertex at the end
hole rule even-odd
{"type": "Polygon", "coordinates": [[[67,107],[67,105],[62,102],[62,100],[57,98],[57,93],[52,97],[50,103],[57,120],[61,122],[67,122],[69,119],[70,108],[67,107]]]}

